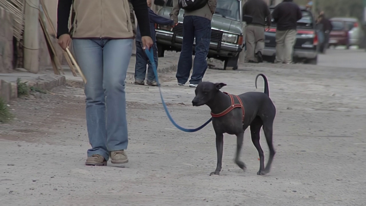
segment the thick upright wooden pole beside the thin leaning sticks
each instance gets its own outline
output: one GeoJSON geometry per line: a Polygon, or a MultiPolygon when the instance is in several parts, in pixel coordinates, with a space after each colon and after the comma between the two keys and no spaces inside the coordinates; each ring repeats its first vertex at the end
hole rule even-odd
{"type": "Polygon", "coordinates": [[[39,0],[25,1],[25,22],[24,22],[24,69],[31,73],[38,73],[39,71],[39,49],[40,40],[38,37],[38,15],[39,15],[39,0]]]}

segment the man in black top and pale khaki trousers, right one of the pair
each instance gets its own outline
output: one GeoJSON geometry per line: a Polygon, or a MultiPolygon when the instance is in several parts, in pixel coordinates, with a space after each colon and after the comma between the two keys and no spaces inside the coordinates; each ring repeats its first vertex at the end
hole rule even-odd
{"type": "Polygon", "coordinates": [[[283,0],[272,12],[272,17],[277,23],[276,63],[292,63],[297,21],[302,18],[300,8],[292,1],[283,0]]]}

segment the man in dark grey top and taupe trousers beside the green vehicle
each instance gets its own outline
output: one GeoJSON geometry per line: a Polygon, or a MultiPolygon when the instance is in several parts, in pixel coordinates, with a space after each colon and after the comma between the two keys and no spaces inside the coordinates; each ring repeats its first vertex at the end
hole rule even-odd
{"type": "Polygon", "coordinates": [[[263,62],[264,27],[271,25],[268,5],[263,0],[249,0],[243,6],[243,15],[253,17],[253,21],[245,28],[246,60],[249,63],[263,62]]]}

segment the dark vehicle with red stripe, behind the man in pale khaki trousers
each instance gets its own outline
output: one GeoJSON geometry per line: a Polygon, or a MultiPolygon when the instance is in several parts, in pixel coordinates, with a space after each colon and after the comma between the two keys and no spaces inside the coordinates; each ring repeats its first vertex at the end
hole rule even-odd
{"type": "MultiPolygon", "coordinates": [[[[272,14],[275,6],[270,6],[272,14]]],[[[318,36],[315,20],[311,11],[300,7],[302,18],[298,21],[296,43],[294,46],[294,62],[304,62],[316,65],[318,62],[318,36]]],[[[265,32],[264,59],[273,62],[276,57],[276,22],[271,21],[269,30],[265,32]]]]}

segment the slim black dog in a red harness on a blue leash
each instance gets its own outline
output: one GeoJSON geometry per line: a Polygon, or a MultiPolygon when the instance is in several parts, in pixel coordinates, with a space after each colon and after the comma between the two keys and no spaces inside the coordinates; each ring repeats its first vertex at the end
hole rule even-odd
{"type": "Polygon", "coordinates": [[[243,170],[246,169],[244,162],[240,161],[240,150],[242,149],[244,131],[250,126],[251,139],[259,154],[258,175],[265,175],[275,156],[273,148],[272,133],[273,120],[276,115],[276,107],[269,98],[268,81],[264,74],[258,74],[255,78],[255,88],[259,76],[264,78],[264,93],[246,92],[241,95],[230,95],[221,92],[220,89],[226,84],[201,82],[195,89],[193,106],[206,104],[211,109],[212,125],[216,133],[217,166],[215,172],[210,175],[219,175],[223,159],[224,133],[236,135],[236,156],[235,163],[243,170]],[[264,154],[259,144],[259,132],[263,126],[269,147],[269,160],[264,167],[264,154]]]}

